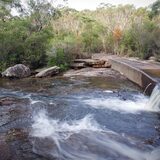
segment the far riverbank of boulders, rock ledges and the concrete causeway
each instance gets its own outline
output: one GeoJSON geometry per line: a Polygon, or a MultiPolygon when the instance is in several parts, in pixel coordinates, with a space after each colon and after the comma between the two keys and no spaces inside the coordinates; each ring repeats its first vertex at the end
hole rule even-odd
{"type": "Polygon", "coordinates": [[[153,60],[144,61],[138,58],[126,58],[107,54],[93,54],[92,59],[76,59],[71,64],[71,68],[66,72],[61,72],[60,68],[53,66],[42,68],[34,72],[27,71],[29,68],[23,65],[10,67],[2,75],[11,77],[34,77],[47,78],[53,76],[64,77],[116,77],[116,79],[128,78],[133,83],[139,85],[144,93],[150,95],[153,88],[160,79],[160,63],[153,60]],[[20,68],[18,68],[20,67],[20,68]],[[27,69],[26,69],[27,68],[27,69]]]}

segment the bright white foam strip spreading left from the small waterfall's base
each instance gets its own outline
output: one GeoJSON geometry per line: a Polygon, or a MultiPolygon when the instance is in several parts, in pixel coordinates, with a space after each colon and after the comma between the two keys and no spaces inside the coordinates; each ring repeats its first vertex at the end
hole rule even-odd
{"type": "Polygon", "coordinates": [[[137,96],[136,100],[123,100],[119,97],[109,97],[87,99],[82,102],[97,109],[110,109],[123,113],[136,114],[140,111],[157,111],[147,105],[148,100],[145,96],[137,96]]]}

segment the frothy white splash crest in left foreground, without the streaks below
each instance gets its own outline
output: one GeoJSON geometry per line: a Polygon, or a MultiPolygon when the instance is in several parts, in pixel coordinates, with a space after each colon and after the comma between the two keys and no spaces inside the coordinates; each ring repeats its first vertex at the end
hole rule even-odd
{"type": "Polygon", "coordinates": [[[78,133],[81,130],[101,131],[100,126],[94,121],[92,115],[87,115],[81,120],[61,122],[50,119],[44,110],[34,116],[32,128],[32,136],[43,138],[54,136],[57,139],[62,138],[59,133],[65,133],[63,138],[68,138],[72,133],[78,133]]]}

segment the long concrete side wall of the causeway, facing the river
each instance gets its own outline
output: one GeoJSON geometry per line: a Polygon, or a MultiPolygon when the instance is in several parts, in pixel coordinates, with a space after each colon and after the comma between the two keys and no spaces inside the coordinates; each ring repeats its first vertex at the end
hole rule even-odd
{"type": "Polygon", "coordinates": [[[138,84],[146,94],[150,95],[154,89],[157,81],[150,77],[148,74],[142,70],[130,66],[127,63],[120,62],[119,60],[110,59],[112,68],[116,71],[119,71],[124,76],[126,76],[132,82],[138,84]]]}

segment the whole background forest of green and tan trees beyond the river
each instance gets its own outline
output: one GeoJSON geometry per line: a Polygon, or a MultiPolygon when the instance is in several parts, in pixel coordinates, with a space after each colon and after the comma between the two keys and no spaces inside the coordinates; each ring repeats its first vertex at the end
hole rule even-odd
{"type": "Polygon", "coordinates": [[[148,8],[101,4],[95,11],[27,2],[0,1],[0,71],[17,63],[67,69],[72,59],[99,52],[160,60],[160,0],[148,8]]]}

